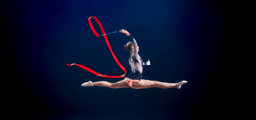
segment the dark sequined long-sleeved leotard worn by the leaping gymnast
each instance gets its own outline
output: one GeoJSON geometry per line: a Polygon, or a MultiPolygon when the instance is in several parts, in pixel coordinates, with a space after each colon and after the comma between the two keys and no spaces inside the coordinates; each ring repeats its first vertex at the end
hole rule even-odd
{"type": "Polygon", "coordinates": [[[139,82],[142,79],[143,65],[146,65],[138,55],[138,45],[136,40],[130,35],[128,36],[133,43],[133,55],[130,57],[131,73],[125,79],[132,82],[139,82]]]}

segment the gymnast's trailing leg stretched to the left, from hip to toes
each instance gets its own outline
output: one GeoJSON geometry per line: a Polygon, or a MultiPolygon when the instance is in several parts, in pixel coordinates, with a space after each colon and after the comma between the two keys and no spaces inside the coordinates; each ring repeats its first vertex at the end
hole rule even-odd
{"type": "Polygon", "coordinates": [[[102,86],[102,87],[108,87],[108,88],[129,88],[130,86],[126,82],[125,79],[122,81],[118,81],[116,83],[109,83],[107,81],[98,81],[98,82],[86,82],[83,83],[81,86],[102,86]]]}

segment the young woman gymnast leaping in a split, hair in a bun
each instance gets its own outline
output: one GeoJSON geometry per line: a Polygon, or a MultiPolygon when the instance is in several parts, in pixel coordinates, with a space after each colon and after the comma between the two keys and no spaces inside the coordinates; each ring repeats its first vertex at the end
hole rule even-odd
{"type": "Polygon", "coordinates": [[[177,88],[179,89],[182,84],[187,83],[187,81],[181,81],[179,83],[164,83],[159,81],[150,81],[141,79],[142,78],[142,71],[143,65],[150,65],[150,61],[148,60],[146,64],[142,61],[141,57],[138,55],[139,47],[137,45],[136,40],[127,32],[125,29],[120,30],[119,32],[124,33],[128,36],[131,42],[128,42],[124,45],[124,49],[131,53],[131,57],[129,59],[129,64],[131,66],[131,73],[129,73],[122,81],[116,83],[109,83],[107,81],[99,81],[99,82],[92,82],[88,81],[83,83],[82,86],[103,86],[108,88],[152,88],[152,87],[159,87],[159,88],[177,88]]]}

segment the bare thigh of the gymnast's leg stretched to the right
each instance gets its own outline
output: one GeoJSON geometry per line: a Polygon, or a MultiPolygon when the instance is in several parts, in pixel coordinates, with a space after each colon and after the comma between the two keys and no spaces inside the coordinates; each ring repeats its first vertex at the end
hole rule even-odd
{"type": "Polygon", "coordinates": [[[132,88],[151,88],[154,87],[154,82],[150,80],[141,80],[131,83],[132,88]]]}

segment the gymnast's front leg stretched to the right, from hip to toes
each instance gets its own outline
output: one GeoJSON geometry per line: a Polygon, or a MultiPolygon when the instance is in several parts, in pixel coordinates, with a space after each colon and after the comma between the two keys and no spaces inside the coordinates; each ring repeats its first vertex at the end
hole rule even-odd
{"type": "Polygon", "coordinates": [[[179,83],[164,83],[159,81],[150,81],[150,80],[142,80],[140,82],[132,82],[131,88],[141,89],[141,88],[177,88],[180,89],[182,84],[187,83],[187,81],[181,81],[179,83]]]}

